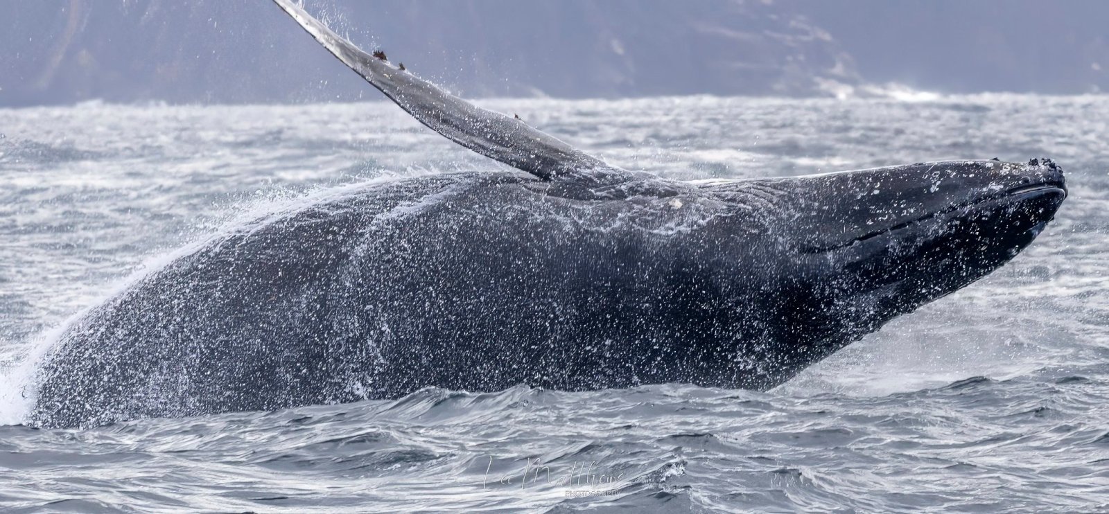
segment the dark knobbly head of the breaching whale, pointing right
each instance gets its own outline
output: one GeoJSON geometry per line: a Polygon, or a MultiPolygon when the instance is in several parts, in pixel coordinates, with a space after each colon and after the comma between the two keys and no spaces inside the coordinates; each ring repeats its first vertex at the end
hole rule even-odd
{"type": "Polygon", "coordinates": [[[795,364],[815,362],[997,269],[1036,238],[1067,196],[1062,171],[1049,160],[924,163],[704,187],[736,208],[754,206],[745,227],[759,229],[747,229],[754,234],[741,251],[764,269],[743,279],[769,277],[764,287],[779,288],[774,310],[763,316],[782,321],[775,330],[783,333],[772,337],[797,346],[795,364]]]}

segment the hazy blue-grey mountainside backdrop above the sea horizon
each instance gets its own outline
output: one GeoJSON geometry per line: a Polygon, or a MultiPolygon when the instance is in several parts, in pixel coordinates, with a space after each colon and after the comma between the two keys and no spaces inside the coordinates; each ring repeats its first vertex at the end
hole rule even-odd
{"type": "MultiPolygon", "coordinates": [[[[1109,2],[316,0],[469,97],[1109,90],[1109,2]]],[[[0,106],[378,100],[268,0],[0,0],[0,106]]]]}

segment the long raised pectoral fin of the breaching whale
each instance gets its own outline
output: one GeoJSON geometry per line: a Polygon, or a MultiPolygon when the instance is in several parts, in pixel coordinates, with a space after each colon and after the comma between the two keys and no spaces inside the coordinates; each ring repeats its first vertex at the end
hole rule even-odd
{"type": "Polygon", "coordinates": [[[404,68],[393,66],[384,52],[366,53],[292,0],[274,2],[344,64],[420,123],[455,143],[542,179],[574,179],[586,176],[598,182],[602,175],[629,173],[532,128],[518,119],[478,107],[416,78],[404,68]]]}

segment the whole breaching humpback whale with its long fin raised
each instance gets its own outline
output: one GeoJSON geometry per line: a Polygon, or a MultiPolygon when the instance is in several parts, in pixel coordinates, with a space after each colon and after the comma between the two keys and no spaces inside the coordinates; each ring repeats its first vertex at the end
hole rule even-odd
{"type": "Polygon", "coordinates": [[[628,171],[275,1],[429,128],[516,171],[375,181],[213,236],[63,329],[30,423],[425,387],[764,390],[998,268],[1067,195],[1049,160],[700,182],[628,171]]]}

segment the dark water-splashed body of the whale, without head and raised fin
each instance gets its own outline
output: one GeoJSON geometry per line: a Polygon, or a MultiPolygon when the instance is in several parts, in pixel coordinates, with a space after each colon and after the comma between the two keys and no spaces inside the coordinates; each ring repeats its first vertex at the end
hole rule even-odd
{"type": "MultiPolygon", "coordinates": [[[[95,425],[427,386],[735,383],[725,341],[741,300],[729,285],[746,271],[721,268],[732,249],[709,236],[726,204],[576,201],[535,184],[506,173],[399,179],[217,236],[68,327],[40,370],[31,421],[95,425]]],[[[759,377],[742,380],[769,383],[759,377]]]]}

